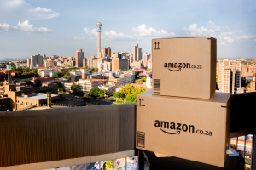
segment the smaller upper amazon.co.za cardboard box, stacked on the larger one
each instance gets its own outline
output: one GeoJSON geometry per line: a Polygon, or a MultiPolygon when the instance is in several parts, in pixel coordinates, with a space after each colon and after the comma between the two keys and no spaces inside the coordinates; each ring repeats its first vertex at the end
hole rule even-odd
{"type": "Polygon", "coordinates": [[[153,94],[210,99],[216,90],[216,39],[152,40],[153,94]]]}

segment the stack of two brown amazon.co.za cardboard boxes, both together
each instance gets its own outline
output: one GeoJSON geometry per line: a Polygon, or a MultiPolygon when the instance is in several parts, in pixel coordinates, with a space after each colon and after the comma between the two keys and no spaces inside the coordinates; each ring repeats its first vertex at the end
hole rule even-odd
{"type": "Polygon", "coordinates": [[[137,149],[224,167],[230,94],[215,93],[216,39],[152,40],[152,90],[137,95],[137,149]]]}

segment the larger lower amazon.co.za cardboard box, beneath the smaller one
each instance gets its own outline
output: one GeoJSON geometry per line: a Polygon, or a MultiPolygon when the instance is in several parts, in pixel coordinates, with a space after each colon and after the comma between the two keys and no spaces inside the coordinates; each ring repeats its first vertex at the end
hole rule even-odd
{"type": "Polygon", "coordinates": [[[137,95],[137,149],[224,167],[230,94],[211,99],[137,95]]]}

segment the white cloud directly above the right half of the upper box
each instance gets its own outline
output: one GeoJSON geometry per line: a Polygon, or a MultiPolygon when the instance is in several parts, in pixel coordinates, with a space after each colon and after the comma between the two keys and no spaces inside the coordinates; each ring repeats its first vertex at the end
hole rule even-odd
{"type": "Polygon", "coordinates": [[[187,32],[188,36],[211,36],[211,37],[216,37],[216,31],[214,30],[207,30],[206,27],[198,27],[197,24],[192,24],[188,27],[183,27],[183,31],[187,32]]]}

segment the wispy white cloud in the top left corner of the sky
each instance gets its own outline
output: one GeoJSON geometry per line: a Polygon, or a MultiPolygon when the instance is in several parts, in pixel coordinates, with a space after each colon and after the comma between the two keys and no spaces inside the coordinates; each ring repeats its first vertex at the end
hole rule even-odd
{"type": "Polygon", "coordinates": [[[15,20],[40,20],[50,19],[60,14],[49,8],[32,7],[24,0],[1,0],[0,18],[15,20]]]}

